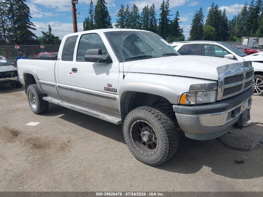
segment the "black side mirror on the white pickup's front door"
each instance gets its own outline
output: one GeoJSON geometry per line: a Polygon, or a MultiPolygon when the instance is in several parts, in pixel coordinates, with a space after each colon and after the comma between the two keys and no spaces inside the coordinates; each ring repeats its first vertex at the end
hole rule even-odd
{"type": "Polygon", "coordinates": [[[102,55],[101,49],[88,49],[84,59],[87,62],[112,63],[109,55],[102,55]]]}

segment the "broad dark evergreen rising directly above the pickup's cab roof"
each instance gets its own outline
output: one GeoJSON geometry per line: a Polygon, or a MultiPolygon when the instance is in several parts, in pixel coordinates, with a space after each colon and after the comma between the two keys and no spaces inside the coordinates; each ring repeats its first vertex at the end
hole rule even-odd
{"type": "Polygon", "coordinates": [[[97,0],[94,12],[94,21],[96,29],[108,29],[112,28],[111,17],[106,7],[105,0],[97,0]]]}

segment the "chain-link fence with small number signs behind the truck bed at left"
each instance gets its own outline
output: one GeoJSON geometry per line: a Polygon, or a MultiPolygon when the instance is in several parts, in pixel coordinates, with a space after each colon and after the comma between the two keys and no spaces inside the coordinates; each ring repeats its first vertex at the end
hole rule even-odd
{"type": "Polygon", "coordinates": [[[13,61],[16,60],[16,57],[36,58],[41,52],[59,52],[59,45],[44,45],[43,49],[40,48],[40,45],[18,46],[0,46],[0,55],[6,57],[9,61],[13,61]]]}

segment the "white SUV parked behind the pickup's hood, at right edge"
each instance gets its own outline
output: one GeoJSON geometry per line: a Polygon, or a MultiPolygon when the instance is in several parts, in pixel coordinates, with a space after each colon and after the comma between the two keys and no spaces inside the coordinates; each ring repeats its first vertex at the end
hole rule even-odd
{"type": "Polygon", "coordinates": [[[236,47],[223,42],[214,41],[185,41],[173,42],[171,46],[181,55],[202,55],[234,59],[240,62],[251,61],[254,67],[254,95],[263,96],[263,52],[247,55],[236,47]]]}

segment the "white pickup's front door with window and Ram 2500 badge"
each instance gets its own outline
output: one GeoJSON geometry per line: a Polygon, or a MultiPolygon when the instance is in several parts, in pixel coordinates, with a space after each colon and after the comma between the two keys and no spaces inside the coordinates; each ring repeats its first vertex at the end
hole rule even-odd
{"type": "Polygon", "coordinates": [[[108,50],[97,33],[83,34],[78,40],[77,53],[71,64],[72,89],[76,100],[88,106],[119,112],[119,62],[96,63],[84,60],[88,49],[108,50]]]}

